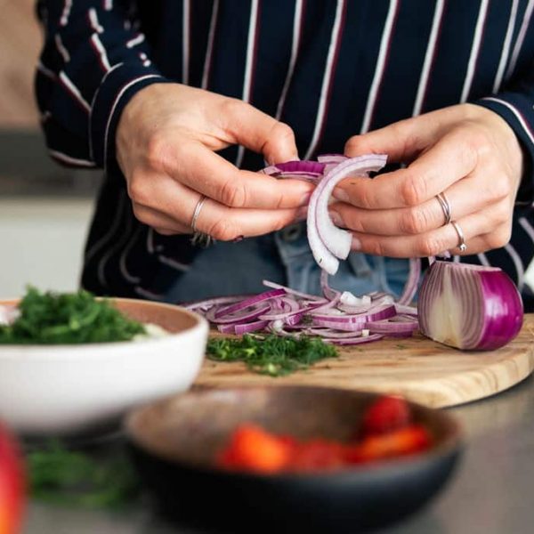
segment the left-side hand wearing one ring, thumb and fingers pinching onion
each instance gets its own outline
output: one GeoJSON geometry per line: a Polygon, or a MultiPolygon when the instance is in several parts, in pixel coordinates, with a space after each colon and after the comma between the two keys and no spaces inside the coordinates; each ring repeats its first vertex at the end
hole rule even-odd
{"type": "Polygon", "coordinates": [[[214,153],[231,144],[269,163],[297,158],[291,128],[233,98],[179,84],[150,85],[117,126],[117,162],[135,216],[164,235],[196,228],[228,241],[277,231],[302,217],[312,185],[242,171],[214,153]]]}

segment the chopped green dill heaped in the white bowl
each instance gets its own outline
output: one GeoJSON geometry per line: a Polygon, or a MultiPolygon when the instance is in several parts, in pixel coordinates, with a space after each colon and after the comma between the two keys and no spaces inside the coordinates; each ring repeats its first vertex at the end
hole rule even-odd
{"type": "Polygon", "coordinates": [[[28,287],[19,310],[17,320],[0,326],[0,344],[105,343],[145,333],[141,323],[83,290],[57,294],[28,287]]]}

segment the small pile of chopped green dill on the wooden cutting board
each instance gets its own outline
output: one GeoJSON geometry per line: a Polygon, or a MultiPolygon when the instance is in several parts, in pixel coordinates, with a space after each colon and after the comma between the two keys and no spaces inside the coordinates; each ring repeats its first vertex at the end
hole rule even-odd
{"type": "Polygon", "coordinates": [[[256,373],[286,376],[337,356],[333,345],[316,337],[250,336],[213,337],[207,343],[207,357],[217,361],[244,361],[256,373]]]}

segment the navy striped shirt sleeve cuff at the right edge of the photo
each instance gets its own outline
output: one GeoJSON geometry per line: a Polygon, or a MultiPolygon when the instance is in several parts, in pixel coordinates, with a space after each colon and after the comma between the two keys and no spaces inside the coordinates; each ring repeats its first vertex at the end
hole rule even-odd
{"type": "Polygon", "coordinates": [[[503,117],[522,143],[524,172],[517,203],[530,205],[534,202],[534,61],[502,92],[473,103],[503,117]]]}

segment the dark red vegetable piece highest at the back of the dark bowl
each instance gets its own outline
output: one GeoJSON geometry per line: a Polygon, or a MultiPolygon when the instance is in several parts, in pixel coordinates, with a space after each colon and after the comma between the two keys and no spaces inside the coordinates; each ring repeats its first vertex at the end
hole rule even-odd
{"type": "Polygon", "coordinates": [[[362,435],[398,430],[410,423],[408,403],[400,397],[380,397],[366,410],[362,422],[362,435]]]}

